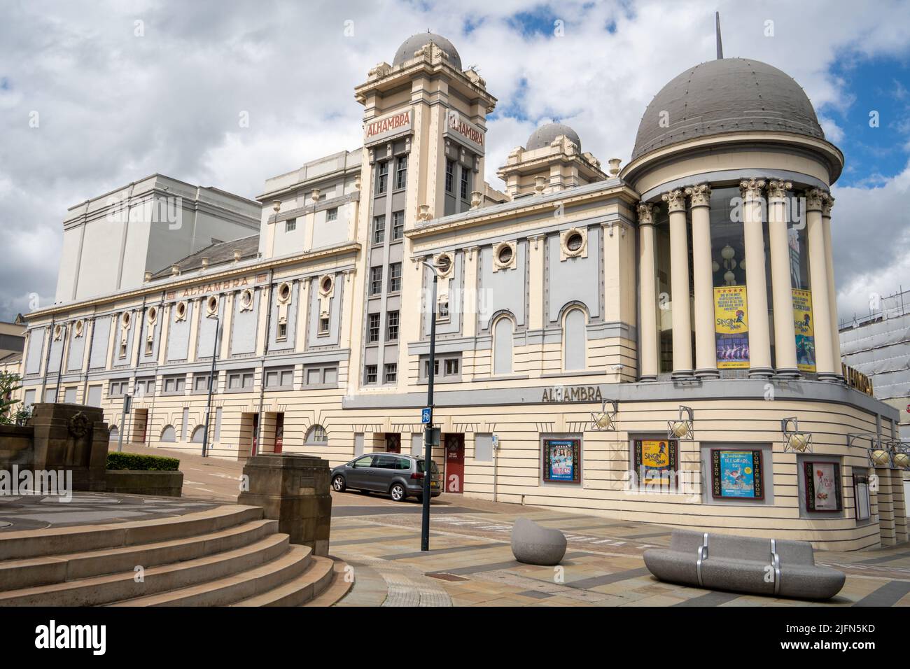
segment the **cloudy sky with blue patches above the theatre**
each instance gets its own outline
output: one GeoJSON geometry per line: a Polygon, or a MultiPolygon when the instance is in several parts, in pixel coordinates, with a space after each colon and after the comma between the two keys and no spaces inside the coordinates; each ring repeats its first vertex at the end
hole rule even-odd
{"type": "Polygon", "coordinates": [[[910,288],[910,1],[6,0],[0,319],[53,302],[61,222],[86,198],[153,172],[253,198],[267,177],[359,147],[353,87],[427,29],[499,98],[495,187],[511,148],[551,118],[625,163],[652,96],[714,57],[715,10],[724,55],[794,76],[844,150],[833,189],[842,318],[910,288]]]}

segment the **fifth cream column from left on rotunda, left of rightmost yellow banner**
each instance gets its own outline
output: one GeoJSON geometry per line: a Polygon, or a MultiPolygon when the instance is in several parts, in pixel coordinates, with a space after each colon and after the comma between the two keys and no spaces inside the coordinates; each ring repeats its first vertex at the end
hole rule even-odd
{"type": "Polygon", "coordinates": [[[790,281],[790,240],[787,236],[788,181],[768,182],[768,236],[771,246],[771,297],[774,308],[774,366],[777,375],[796,379],[796,332],[793,285],[790,281]]]}

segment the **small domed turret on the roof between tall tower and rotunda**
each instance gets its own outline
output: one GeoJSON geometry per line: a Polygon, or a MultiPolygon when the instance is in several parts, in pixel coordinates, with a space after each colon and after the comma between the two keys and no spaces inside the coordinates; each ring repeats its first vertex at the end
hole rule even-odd
{"type": "Polygon", "coordinates": [[[561,123],[534,130],[524,147],[512,150],[497,175],[506,182],[512,198],[553,193],[606,178],[601,161],[591,153],[581,153],[578,133],[561,123]]]}

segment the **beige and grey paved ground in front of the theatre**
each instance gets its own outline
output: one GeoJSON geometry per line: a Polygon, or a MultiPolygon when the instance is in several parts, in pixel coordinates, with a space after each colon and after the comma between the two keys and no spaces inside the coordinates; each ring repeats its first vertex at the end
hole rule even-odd
{"type": "MultiPolygon", "coordinates": [[[[154,451],[181,460],[184,504],[237,499],[237,462],[187,451],[154,451]]],[[[672,529],[571,512],[443,494],[433,500],[430,552],[420,552],[420,503],[375,494],[332,493],[330,551],[354,569],[341,606],[803,606],[819,603],[722,593],[657,581],[642,552],[667,546],[672,529]],[[515,561],[519,516],[566,534],[560,567],[515,561]]],[[[910,605],[910,549],[815,553],[846,573],[828,606],[910,605]]]]}

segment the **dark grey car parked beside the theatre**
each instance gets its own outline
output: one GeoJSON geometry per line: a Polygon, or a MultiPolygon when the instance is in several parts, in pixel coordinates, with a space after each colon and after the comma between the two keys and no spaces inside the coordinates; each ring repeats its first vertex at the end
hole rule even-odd
{"type": "MultiPolygon", "coordinates": [[[[423,497],[424,460],[399,453],[367,453],[332,470],[332,490],[383,492],[395,502],[423,497]]],[[[430,467],[430,497],[442,492],[442,475],[436,462],[430,467]]]]}

